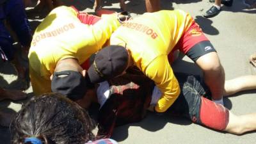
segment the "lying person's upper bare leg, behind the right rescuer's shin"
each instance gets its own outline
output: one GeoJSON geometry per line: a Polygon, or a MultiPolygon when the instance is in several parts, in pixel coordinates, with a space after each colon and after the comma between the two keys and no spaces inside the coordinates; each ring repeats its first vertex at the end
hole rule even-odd
{"type": "Polygon", "coordinates": [[[241,76],[225,81],[223,95],[228,96],[243,90],[253,89],[256,89],[256,75],[241,76]]]}

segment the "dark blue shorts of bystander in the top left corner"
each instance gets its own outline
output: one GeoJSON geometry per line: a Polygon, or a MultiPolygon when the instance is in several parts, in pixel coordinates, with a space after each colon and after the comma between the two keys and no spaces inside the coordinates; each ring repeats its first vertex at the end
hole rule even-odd
{"type": "Polygon", "coordinates": [[[22,0],[8,0],[0,4],[0,54],[3,60],[12,60],[13,40],[4,26],[4,20],[10,24],[20,44],[29,47],[32,34],[22,0]]]}

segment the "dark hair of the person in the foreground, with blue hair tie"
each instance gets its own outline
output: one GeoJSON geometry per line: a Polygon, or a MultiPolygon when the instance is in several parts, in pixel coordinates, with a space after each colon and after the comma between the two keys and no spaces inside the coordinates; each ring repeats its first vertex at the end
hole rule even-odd
{"type": "Polygon", "coordinates": [[[10,131],[13,144],[22,144],[30,137],[44,144],[81,144],[95,140],[94,127],[88,113],[76,102],[60,93],[45,93],[24,105],[13,119],[10,131]]]}

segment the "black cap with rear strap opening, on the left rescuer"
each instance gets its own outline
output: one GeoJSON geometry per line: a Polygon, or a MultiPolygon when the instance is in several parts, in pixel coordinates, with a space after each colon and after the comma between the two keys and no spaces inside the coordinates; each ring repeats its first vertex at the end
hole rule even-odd
{"type": "Polygon", "coordinates": [[[86,80],[80,72],[65,70],[54,72],[51,82],[52,92],[58,92],[71,100],[82,99],[86,93],[86,80]]]}

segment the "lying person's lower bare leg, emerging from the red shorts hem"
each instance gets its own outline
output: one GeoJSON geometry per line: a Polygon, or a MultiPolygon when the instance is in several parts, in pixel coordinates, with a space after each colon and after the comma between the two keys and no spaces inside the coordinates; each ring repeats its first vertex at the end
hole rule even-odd
{"type": "Polygon", "coordinates": [[[229,112],[229,122],[225,131],[232,134],[243,134],[248,131],[256,130],[256,113],[236,116],[229,112]]]}

